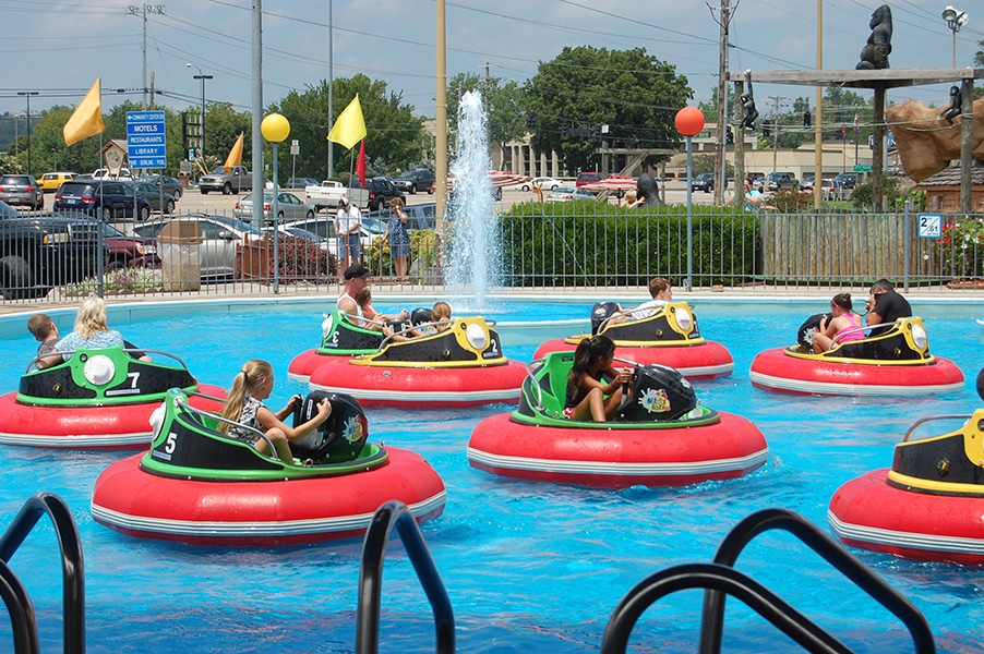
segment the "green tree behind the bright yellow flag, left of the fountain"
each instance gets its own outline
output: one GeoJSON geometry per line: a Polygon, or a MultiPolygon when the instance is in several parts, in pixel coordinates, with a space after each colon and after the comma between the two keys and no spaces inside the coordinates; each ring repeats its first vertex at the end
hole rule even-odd
{"type": "MultiPolygon", "coordinates": [[[[335,78],[332,108],[336,119],[356,94],[365,119],[365,158],[370,172],[384,174],[419,162],[428,143],[423,119],[413,116],[413,107],[403,102],[401,94],[391,92],[385,82],[372,81],[361,73],[335,78]]],[[[349,152],[327,140],[327,81],[309,85],[303,92],[291,90],[280,100],[278,110],[290,121],[290,138],[299,141],[297,174],[326,177],[328,147],[334,147],[336,178],[348,181],[359,146],[349,152]]],[[[291,165],[289,148],[280,148],[280,169],[291,170],[291,165]]]]}

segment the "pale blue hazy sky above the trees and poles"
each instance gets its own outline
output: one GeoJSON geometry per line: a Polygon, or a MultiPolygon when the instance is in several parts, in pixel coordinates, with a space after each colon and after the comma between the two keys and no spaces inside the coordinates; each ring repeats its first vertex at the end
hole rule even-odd
{"type": "MultiPolygon", "coordinates": [[[[327,0],[263,0],[264,105],[289,89],[328,76],[327,0]]],[[[824,68],[853,69],[880,2],[824,0],[824,68]]],[[[890,2],[895,34],[890,63],[902,68],[950,68],[952,33],[940,17],[946,2],[890,2]]],[[[96,77],[104,108],[121,98],[140,101],[143,65],[142,4],[124,0],[87,2],[0,0],[0,112],[23,111],[19,90],[37,90],[32,110],[75,105],[96,77]],[[117,94],[115,89],[130,89],[117,94]]],[[[184,109],[201,101],[199,65],[214,75],[209,101],[250,108],[252,4],[249,0],[167,0],[147,13],[147,80],[166,96],[157,101],[184,109]]],[[[362,72],[383,80],[422,116],[434,113],[435,8],[433,0],[333,0],[334,74],[362,72]]],[[[958,66],[972,64],[984,39],[984,8],[957,4],[970,21],[957,34],[958,66]],[[975,11],[976,8],[976,11],[975,11]],[[975,15],[979,14],[979,15],[975,15]]],[[[731,70],[816,66],[814,0],[732,0],[731,70]]],[[[685,74],[697,99],[717,84],[719,26],[703,0],[455,0],[446,3],[448,77],[459,72],[524,82],[539,61],[564,46],[609,49],[644,47],[685,74]]],[[[814,97],[808,87],[756,85],[763,98],[814,97]]],[[[917,99],[941,105],[947,86],[902,88],[889,101],[917,99]]],[[[769,105],[771,106],[771,105],[769,105]]]]}

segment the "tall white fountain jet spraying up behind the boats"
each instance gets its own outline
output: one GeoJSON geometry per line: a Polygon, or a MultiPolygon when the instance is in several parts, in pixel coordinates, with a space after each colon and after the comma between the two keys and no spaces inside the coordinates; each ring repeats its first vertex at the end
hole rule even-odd
{"type": "Polygon", "coordinates": [[[448,207],[447,281],[453,294],[475,294],[475,308],[485,307],[485,292],[499,283],[490,269],[500,261],[496,217],[492,209],[491,160],[481,95],[469,90],[458,108],[458,146],[451,172],[454,192],[448,207]]]}

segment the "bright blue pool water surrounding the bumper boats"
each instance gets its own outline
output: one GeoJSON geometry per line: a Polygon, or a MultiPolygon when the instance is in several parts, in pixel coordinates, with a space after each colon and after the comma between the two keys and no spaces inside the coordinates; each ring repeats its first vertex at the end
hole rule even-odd
{"type": "MultiPolygon", "coordinates": [[[[419,299],[410,306],[433,299],[419,299]]],[[[984,303],[913,306],[926,318],[933,351],[968,377],[947,397],[845,399],[794,397],[752,388],[748,367],[766,348],[789,344],[803,317],[825,302],[694,302],[707,338],[723,342],[734,375],[695,383],[701,402],[755,422],[769,441],[769,463],[748,477],[679,489],[589,491],[505,480],[468,465],[465,446],[481,419],[508,407],[468,411],[369,412],[371,438],[422,453],[447,486],[444,514],[424,536],[447,585],[461,652],[597,651],[621,597],[669,566],[709,561],[724,534],[748,513],[784,507],[827,529],[827,502],[843,482],[891,461],[909,425],[934,414],[968,414],[981,404],[973,379],[982,365],[984,303]]],[[[380,302],[381,307],[393,306],[380,302]]],[[[525,319],[587,325],[590,301],[528,305],[496,301],[506,353],[528,360],[536,349],[525,319]]],[[[136,344],[182,356],[200,380],[228,387],[242,361],[269,360],[277,371],[271,400],[280,405],[304,388],[287,364],[317,339],[317,302],[279,306],[199,305],[192,313],[139,305],[115,308],[111,324],[136,344]]],[[[456,312],[466,313],[453,303],[456,312]]],[[[35,344],[26,317],[0,318],[0,389],[16,388],[35,344]]],[[[71,315],[59,318],[63,330],[71,315]]],[[[554,335],[557,336],[557,335],[554,335]]],[[[2,447],[0,526],[33,493],[62,496],[85,548],[89,652],[351,652],[361,542],[287,549],[197,548],[133,540],[96,524],[93,483],[123,452],[47,451],[2,447]]],[[[325,498],[331,501],[331,498],[325,498]]],[[[46,521],[11,560],[43,626],[44,651],[61,646],[61,572],[46,521]]],[[[927,616],[944,652],[984,647],[984,583],[979,570],[855,554],[927,616]]],[[[764,582],[859,652],[911,651],[904,629],[819,557],[792,537],[766,534],[739,569],[764,582]]],[[[701,596],[672,595],[650,608],[632,651],[694,651],[701,596]]],[[[383,586],[382,651],[433,651],[430,609],[398,548],[383,586]]],[[[0,651],[9,623],[0,620],[0,651]]],[[[728,605],[724,650],[797,651],[737,602],[728,605]]]]}

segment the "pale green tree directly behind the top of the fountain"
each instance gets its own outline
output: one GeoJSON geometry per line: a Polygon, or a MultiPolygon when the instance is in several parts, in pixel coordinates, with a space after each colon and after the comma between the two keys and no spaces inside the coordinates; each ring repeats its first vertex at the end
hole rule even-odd
{"type": "Polygon", "coordinates": [[[525,97],[516,82],[503,84],[499,77],[480,77],[473,73],[458,73],[447,85],[448,146],[454,146],[458,131],[458,105],[469,90],[482,94],[482,106],[489,126],[489,142],[503,149],[511,141],[523,138],[527,132],[525,97]]]}

